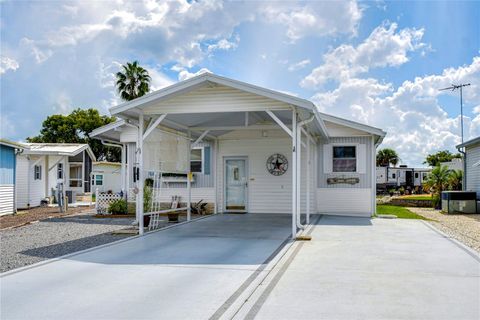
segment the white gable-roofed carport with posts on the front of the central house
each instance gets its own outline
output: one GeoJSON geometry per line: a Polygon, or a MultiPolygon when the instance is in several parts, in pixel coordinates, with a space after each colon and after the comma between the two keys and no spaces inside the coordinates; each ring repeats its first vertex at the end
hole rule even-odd
{"type": "MultiPolygon", "coordinates": [[[[116,124],[95,130],[92,137],[110,145],[116,144],[122,147],[122,150],[125,150],[126,142],[135,143],[134,190],[140,234],[143,233],[141,217],[144,214],[158,213],[155,209],[145,213],[143,206],[143,182],[147,175],[151,175],[155,170],[159,172],[164,170],[161,167],[163,164],[158,168],[152,169],[154,165],[146,168],[146,163],[154,163],[152,159],[158,160],[157,158],[161,157],[161,153],[152,156],[154,152],[149,153],[146,144],[152,133],[157,130],[187,141],[182,148],[188,151],[177,151],[183,156],[176,159],[177,171],[179,162],[187,163],[182,166],[184,173],[190,172],[189,150],[206,140],[212,143],[215,150],[212,160],[215,171],[212,188],[215,213],[228,211],[288,213],[291,214],[291,234],[295,238],[297,231],[304,228],[300,223],[301,213],[305,213],[306,222],[309,223],[309,215],[316,212],[317,168],[313,164],[316,164],[318,142],[321,139],[328,139],[328,134],[315,105],[310,101],[204,73],[113,107],[110,112],[121,120],[116,124]],[[241,179],[237,179],[239,183],[232,187],[233,191],[227,190],[228,171],[225,168],[229,166],[229,159],[237,161],[235,165],[240,166],[240,169],[233,173],[234,175],[239,172],[240,174],[248,172],[248,166],[242,164],[243,158],[249,158],[251,167],[264,168],[265,166],[265,160],[258,160],[253,156],[244,157],[244,153],[251,150],[261,151],[269,146],[268,144],[260,145],[260,142],[248,138],[252,132],[260,132],[265,138],[263,141],[275,141],[278,148],[288,147],[286,150],[288,154],[274,153],[277,160],[272,160],[277,161],[277,165],[280,156],[285,159],[282,161],[288,161],[288,170],[285,169],[286,174],[283,176],[283,179],[287,176],[290,178],[288,185],[265,179],[264,176],[260,177],[261,179],[249,178],[247,173],[244,173],[241,179]],[[237,135],[238,138],[236,140],[231,138],[228,145],[219,144],[219,136],[226,134],[237,135]],[[236,148],[242,143],[244,143],[244,150],[247,151],[240,153],[236,148]],[[222,150],[228,151],[222,153],[222,150]],[[150,154],[150,159],[147,159],[147,154],[150,154]],[[277,188],[277,185],[281,187],[277,188]],[[250,189],[256,188],[255,191],[247,189],[249,186],[251,186],[250,189]],[[262,193],[264,190],[270,191],[262,193]],[[243,204],[229,207],[228,197],[233,192],[238,193],[233,197],[241,199],[243,204]],[[288,202],[285,201],[286,199],[288,202]],[[256,206],[249,206],[250,203],[256,206]]],[[[125,169],[125,159],[128,157],[122,157],[122,172],[129,171],[125,169]]],[[[122,181],[126,184],[125,181],[128,179],[122,181]]],[[[128,192],[128,186],[124,185],[123,189],[128,192]]],[[[160,194],[161,191],[158,193],[160,194]]],[[[187,219],[190,220],[191,176],[186,184],[185,195],[188,200],[184,209],[188,211],[187,219]]]]}

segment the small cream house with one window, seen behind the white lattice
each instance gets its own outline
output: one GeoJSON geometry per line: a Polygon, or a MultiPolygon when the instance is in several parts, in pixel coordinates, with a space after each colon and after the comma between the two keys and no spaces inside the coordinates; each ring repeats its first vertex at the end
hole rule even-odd
{"type": "Polygon", "coordinates": [[[94,162],[91,175],[92,192],[122,191],[121,166],[119,162],[94,162]]]}

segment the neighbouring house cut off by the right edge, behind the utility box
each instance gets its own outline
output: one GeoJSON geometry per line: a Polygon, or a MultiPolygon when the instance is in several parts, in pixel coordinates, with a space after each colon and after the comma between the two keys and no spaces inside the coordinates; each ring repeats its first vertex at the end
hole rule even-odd
{"type": "Polygon", "coordinates": [[[480,199],[480,137],[468,140],[457,146],[465,152],[464,191],[475,191],[480,199]]]}

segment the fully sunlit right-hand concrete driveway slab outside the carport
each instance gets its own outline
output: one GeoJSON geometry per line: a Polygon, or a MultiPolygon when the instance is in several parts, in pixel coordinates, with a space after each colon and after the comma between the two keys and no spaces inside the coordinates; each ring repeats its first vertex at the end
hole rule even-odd
{"type": "Polygon", "coordinates": [[[236,319],[480,319],[480,262],[419,220],[324,216],[236,319]]]}

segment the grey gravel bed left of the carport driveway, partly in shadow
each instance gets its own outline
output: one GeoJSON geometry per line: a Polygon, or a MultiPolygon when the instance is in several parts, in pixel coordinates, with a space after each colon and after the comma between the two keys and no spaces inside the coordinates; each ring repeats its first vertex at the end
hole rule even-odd
{"type": "Polygon", "coordinates": [[[89,212],[0,230],[0,272],[122,239],[124,235],[111,232],[131,227],[132,222],[98,219],[89,212]]]}

